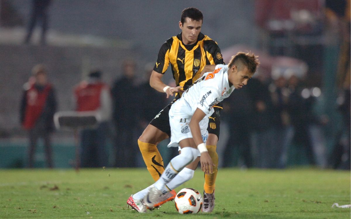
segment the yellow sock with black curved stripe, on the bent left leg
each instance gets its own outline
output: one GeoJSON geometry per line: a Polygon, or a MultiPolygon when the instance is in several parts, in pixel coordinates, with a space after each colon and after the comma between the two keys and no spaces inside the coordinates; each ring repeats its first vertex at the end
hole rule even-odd
{"type": "Polygon", "coordinates": [[[150,172],[152,178],[157,181],[165,170],[163,159],[157,149],[157,145],[141,142],[139,139],[138,145],[147,170],[150,172]]]}

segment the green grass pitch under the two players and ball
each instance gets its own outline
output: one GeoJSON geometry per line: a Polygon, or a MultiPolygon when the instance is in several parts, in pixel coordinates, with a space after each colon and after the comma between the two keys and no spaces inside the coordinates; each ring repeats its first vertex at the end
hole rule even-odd
{"type": "MultiPolygon", "coordinates": [[[[216,207],[181,215],[174,203],[140,214],[126,200],[152,184],[146,169],[0,170],[0,218],[330,218],[350,219],[350,171],[220,169],[216,207]]],[[[202,191],[203,173],[180,186],[202,191]]]]}

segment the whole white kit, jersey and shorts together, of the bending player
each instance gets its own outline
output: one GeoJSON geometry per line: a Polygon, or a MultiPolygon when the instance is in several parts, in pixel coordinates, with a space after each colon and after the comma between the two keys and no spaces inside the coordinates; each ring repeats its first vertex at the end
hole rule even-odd
{"type": "Polygon", "coordinates": [[[223,64],[218,64],[213,72],[204,74],[194,82],[181,98],[172,104],[169,112],[171,143],[168,147],[178,146],[181,140],[192,138],[188,125],[197,108],[206,114],[199,125],[201,135],[207,138],[208,117],[214,112],[213,106],[229,97],[233,90],[234,86],[229,86],[228,66],[223,64]]]}

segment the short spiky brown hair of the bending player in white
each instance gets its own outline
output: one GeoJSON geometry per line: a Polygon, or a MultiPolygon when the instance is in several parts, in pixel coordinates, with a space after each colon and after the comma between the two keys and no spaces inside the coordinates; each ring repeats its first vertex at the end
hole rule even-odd
{"type": "Polygon", "coordinates": [[[247,67],[251,73],[255,73],[257,67],[259,66],[260,62],[257,59],[258,56],[249,52],[243,53],[239,52],[236,55],[233,55],[231,60],[229,61],[229,68],[232,66],[236,66],[239,70],[247,67]]]}

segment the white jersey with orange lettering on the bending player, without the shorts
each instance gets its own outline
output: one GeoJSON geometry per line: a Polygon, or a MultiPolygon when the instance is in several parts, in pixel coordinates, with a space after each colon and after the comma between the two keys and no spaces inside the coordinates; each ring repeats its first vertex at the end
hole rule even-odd
{"type": "Polygon", "coordinates": [[[191,115],[199,108],[209,117],[214,112],[213,106],[229,97],[233,90],[234,86],[229,86],[228,65],[218,64],[213,73],[204,74],[191,85],[180,100],[190,105],[191,115]]]}

